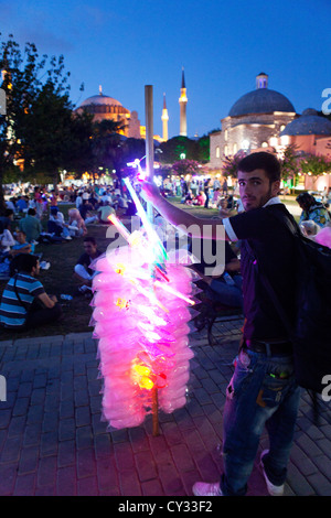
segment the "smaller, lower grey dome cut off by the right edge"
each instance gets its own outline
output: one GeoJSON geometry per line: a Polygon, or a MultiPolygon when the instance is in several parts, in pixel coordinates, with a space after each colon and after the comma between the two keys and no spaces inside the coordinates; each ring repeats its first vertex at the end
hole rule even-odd
{"type": "Polygon", "coordinates": [[[281,131],[280,137],[288,134],[331,134],[331,121],[319,116],[317,110],[308,108],[302,115],[289,122],[281,131]]]}

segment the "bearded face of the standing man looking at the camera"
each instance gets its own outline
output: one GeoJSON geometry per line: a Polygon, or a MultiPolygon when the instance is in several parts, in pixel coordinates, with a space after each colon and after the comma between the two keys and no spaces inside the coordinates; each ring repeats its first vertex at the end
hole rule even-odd
{"type": "Polygon", "coordinates": [[[245,211],[263,207],[268,199],[277,196],[280,182],[270,182],[263,169],[250,173],[238,171],[241,198],[245,211]]]}

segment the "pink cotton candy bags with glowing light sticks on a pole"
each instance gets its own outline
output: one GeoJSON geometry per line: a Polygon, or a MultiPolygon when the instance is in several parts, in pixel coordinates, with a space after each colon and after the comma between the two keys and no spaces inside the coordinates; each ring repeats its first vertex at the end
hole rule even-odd
{"type": "Polygon", "coordinates": [[[109,216],[127,246],[92,265],[98,271],[90,324],[104,379],[103,419],[115,429],[137,427],[149,413],[154,421],[159,409],[170,413],[183,407],[193,357],[188,338],[193,273],[170,261],[136,192],[126,185],[142,227],[135,236],[109,216]]]}

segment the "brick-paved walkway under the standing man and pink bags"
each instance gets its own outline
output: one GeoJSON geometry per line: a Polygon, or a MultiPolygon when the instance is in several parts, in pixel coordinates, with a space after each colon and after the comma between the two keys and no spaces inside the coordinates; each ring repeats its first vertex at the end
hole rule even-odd
{"type": "MultiPolygon", "coordinates": [[[[107,431],[90,333],[0,342],[0,495],[191,496],[222,471],[222,409],[242,322],[218,325],[218,345],[191,335],[188,403],[135,429],[107,431]],[[3,378],[1,378],[3,380],[3,378]],[[0,392],[1,393],[1,392],[0,392]]],[[[319,427],[302,396],[287,495],[331,495],[331,403],[319,427]]],[[[266,447],[261,439],[260,450],[266,447]]],[[[248,495],[266,495],[256,465],[248,495]]]]}

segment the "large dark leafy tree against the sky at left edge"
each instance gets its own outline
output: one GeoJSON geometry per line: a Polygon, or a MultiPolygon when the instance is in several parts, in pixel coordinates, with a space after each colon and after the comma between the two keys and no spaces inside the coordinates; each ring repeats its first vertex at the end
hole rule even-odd
{"type": "MultiPolygon", "coordinates": [[[[87,118],[73,116],[64,58],[40,58],[33,43],[21,51],[9,35],[1,42],[0,69],[7,96],[7,114],[0,116],[0,183],[20,159],[25,179],[42,173],[56,183],[58,171],[74,162],[74,153],[82,158],[82,142],[90,134],[87,118]],[[78,134],[81,140],[75,140],[78,134]]],[[[1,187],[0,203],[3,206],[1,187]]]]}

